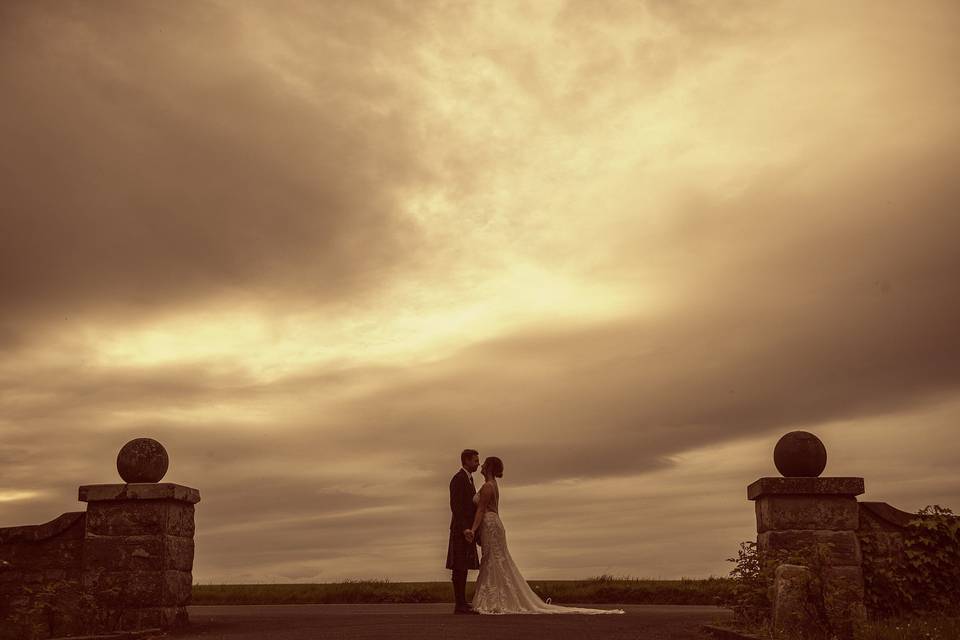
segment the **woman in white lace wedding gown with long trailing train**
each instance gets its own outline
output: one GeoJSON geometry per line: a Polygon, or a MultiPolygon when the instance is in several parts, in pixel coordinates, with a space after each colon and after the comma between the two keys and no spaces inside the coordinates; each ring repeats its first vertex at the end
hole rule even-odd
{"type": "Polygon", "coordinates": [[[473,528],[468,530],[469,537],[480,531],[480,548],[483,557],[480,560],[480,574],[477,576],[477,588],[472,606],[480,613],[623,613],[623,609],[584,609],[580,607],[561,607],[547,604],[540,599],[527,581],[507,550],[507,535],[497,512],[500,503],[500,487],[497,478],[503,477],[503,461],[489,457],[483,461],[480,473],[486,482],[473,497],[477,503],[477,514],[473,528]]]}

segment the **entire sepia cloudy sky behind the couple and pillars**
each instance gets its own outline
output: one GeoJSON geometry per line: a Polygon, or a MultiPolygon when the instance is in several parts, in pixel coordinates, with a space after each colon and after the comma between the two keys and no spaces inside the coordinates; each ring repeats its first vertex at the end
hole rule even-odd
{"type": "Polygon", "coordinates": [[[0,4],[0,526],[147,436],[194,581],[725,575],[785,432],[960,510],[955,2],[0,4]]]}

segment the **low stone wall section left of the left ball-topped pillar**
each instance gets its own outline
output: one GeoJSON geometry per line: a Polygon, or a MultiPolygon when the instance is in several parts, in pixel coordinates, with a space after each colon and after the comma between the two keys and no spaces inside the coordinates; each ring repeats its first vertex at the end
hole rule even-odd
{"type": "Polygon", "coordinates": [[[69,635],[81,626],[86,515],[0,529],[0,638],[69,635]]]}

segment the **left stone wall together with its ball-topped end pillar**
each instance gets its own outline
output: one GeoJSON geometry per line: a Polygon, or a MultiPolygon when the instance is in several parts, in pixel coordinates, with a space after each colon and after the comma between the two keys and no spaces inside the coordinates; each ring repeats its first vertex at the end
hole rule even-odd
{"type": "Polygon", "coordinates": [[[86,511],[0,528],[0,640],[189,622],[200,492],[161,483],[167,464],[159,442],[131,440],[117,457],[126,482],[81,486],[86,511]]]}

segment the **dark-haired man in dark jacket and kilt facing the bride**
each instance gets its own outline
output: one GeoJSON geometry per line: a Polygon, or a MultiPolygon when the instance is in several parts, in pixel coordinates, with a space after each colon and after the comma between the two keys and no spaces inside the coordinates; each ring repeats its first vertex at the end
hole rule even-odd
{"type": "Polygon", "coordinates": [[[479,569],[477,543],[468,537],[477,507],[473,496],[477,493],[473,473],[480,468],[480,454],[464,449],[460,454],[460,470],[450,480],[450,543],[447,545],[447,569],[453,570],[454,613],[479,613],[467,604],[467,571],[479,569]]]}

